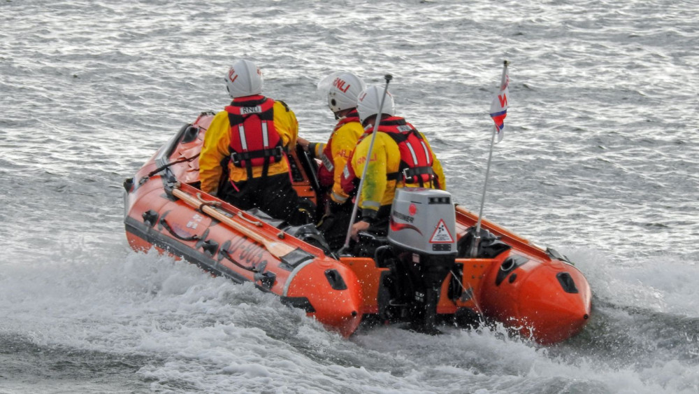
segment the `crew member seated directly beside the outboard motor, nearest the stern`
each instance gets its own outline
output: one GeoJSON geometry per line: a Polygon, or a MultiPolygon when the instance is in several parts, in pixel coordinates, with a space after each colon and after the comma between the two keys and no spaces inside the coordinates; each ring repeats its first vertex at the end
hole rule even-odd
{"type": "Polygon", "coordinates": [[[361,137],[347,162],[341,182],[345,192],[351,192],[358,183],[364,166],[368,165],[359,196],[361,219],[352,225],[352,238],[355,240],[357,232],[362,230],[386,234],[396,188],[446,190],[442,164],[425,136],[405,119],[394,115],[394,100],[388,92],[371,158],[367,164],[371,133],[383,92],[381,87],[370,86],[359,94],[357,109],[366,134],[361,137]]]}

